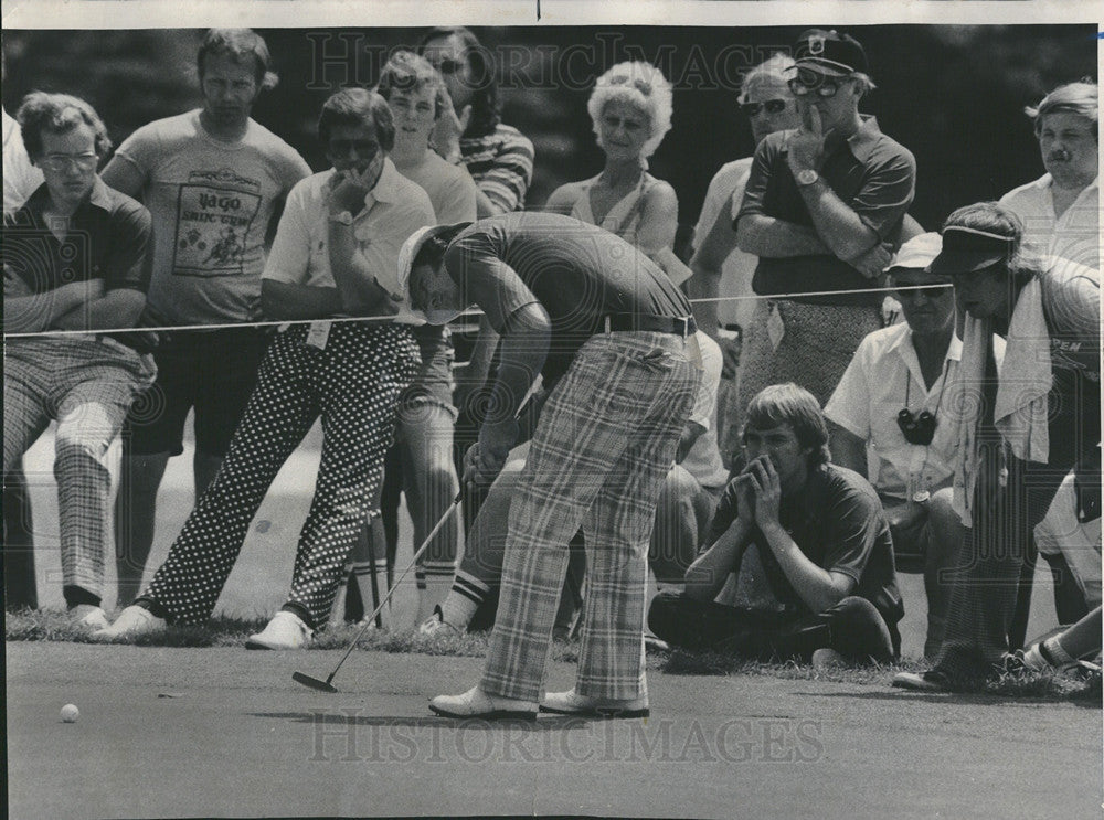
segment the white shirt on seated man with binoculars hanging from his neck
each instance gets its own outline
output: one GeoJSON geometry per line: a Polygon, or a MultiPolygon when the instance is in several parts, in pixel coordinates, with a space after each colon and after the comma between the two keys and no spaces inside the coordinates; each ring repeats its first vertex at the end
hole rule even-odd
{"type": "MultiPolygon", "coordinates": [[[[995,337],[994,344],[999,362],[1004,341],[995,337]]],[[[875,330],[859,343],[825,405],[825,416],[868,443],[868,475],[880,494],[904,500],[913,492],[931,491],[954,473],[955,425],[942,418],[946,408],[941,405],[945,385],[957,373],[962,349],[962,340],[953,338],[943,372],[928,390],[907,324],[875,330]],[[926,447],[909,444],[898,427],[906,394],[913,417],[926,409],[936,418],[935,436],[926,447]]],[[[949,418],[949,413],[945,415],[949,418]]]]}

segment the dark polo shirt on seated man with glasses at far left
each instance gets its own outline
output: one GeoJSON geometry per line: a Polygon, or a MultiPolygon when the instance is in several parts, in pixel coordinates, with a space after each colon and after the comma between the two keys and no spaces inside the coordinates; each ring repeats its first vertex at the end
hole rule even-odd
{"type": "MultiPolygon", "coordinates": [[[[34,294],[92,279],[103,279],[105,290],[148,290],[151,220],[140,203],[97,177],[88,198],[73,213],[64,239],[46,225],[43,211],[49,204],[50,192],[42,184],[21,209],[4,215],[6,275],[19,277],[34,294]]],[[[113,338],[142,352],[156,341],[152,333],[113,338]]]]}

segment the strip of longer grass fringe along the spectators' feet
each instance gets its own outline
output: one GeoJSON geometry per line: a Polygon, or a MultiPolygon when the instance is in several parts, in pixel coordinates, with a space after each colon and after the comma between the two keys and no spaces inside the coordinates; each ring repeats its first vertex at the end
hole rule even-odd
{"type": "MultiPolygon", "coordinates": [[[[244,647],[248,636],[264,628],[265,618],[216,617],[202,626],[169,627],[163,632],[126,641],[156,647],[244,647]]],[[[65,613],[22,609],[6,614],[4,638],[9,641],[94,642],[75,627],[65,613]]],[[[360,627],[338,626],[320,632],[311,649],[344,649],[360,627]]],[[[365,651],[473,657],[487,653],[488,633],[445,635],[426,638],[412,632],[369,630],[357,647],[365,651]]],[[[553,641],[552,660],[578,660],[578,641],[553,641]]],[[[816,670],[794,661],[765,663],[733,654],[690,652],[682,649],[664,651],[648,648],[650,671],[677,675],[766,675],[785,680],[829,681],[858,685],[889,685],[896,672],[920,672],[927,667],[919,661],[887,665],[845,667],[816,670]]],[[[1078,680],[1053,672],[1019,672],[1002,675],[985,684],[966,685],[965,694],[987,694],[1002,699],[1036,701],[1073,701],[1101,705],[1101,679],[1078,680]]]]}

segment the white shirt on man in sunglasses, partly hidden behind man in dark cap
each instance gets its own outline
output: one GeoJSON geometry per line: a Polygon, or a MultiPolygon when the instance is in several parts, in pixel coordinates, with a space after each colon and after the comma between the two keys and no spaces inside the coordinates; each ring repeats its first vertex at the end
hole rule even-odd
{"type": "MultiPolygon", "coordinates": [[[[752,157],[737,159],[735,162],[726,162],[721,166],[721,170],[713,175],[705,192],[705,201],[701,206],[701,216],[694,226],[694,247],[701,247],[709,236],[709,232],[716,222],[716,217],[722,213],[724,219],[732,225],[736,214],[740,213],[740,205],[744,201],[744,187],[752,172],[752,157]]],[[[755,265],[758,257],[735,248],[724,264],[721,265],[721,283],[718,287],[718,296],[753,297],[752,276],[755,275],[755,265]]],[[[742,328],[749,328],[752,323],[752,315],[755,312],[756,300],[725,299],[716,303],[716,320],[721,324],[736,323],[742,328]]]]}

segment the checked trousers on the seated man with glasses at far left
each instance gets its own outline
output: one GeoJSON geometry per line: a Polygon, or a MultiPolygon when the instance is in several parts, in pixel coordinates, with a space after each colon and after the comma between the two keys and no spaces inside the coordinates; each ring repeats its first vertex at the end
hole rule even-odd
{"type": "Polygon", "coordinates": [[[54,476],[66,587],[103,595],[112,544],[108,449],[156,373],[152,356],[114,339],[13,339],[4,345],[4,472],[19,469],[50,420],[57,422],[54,476]]]}

